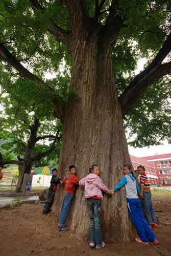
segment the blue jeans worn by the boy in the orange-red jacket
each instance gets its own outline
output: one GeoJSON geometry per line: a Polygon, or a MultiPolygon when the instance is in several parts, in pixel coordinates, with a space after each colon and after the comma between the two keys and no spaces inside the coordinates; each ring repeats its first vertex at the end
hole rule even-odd
{"type": "Polygon", "coordinates": [[[59,227],[64,227],[66,219],[69,215],[69,209],[72,202],[72,199],[74,197],[74,194],[65,193],[63,197],[62,207],[61,207],[61,213],[59,216],[59,227]]]}

